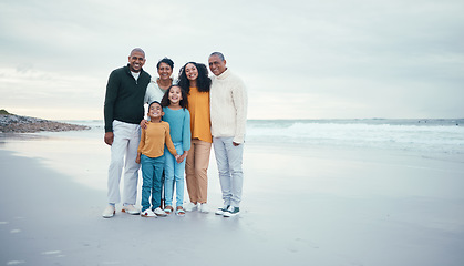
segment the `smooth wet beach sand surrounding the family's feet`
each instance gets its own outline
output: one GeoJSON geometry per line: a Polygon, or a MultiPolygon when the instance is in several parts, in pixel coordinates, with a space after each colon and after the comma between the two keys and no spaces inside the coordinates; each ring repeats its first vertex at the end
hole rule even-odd
{"type": "Polygon", "coordinates": [[[103,134],[3,134],[0,265],[464,265],[462,155],[246,145],[240,216],[105,219],[103,134]]]}

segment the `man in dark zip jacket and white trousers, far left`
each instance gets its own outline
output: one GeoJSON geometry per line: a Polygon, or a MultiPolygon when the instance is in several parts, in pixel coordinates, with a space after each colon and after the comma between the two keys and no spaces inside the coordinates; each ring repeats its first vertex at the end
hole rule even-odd
{"type": "Polygon", "coordinates": [[[121,202],[120,181],[124,167],[124,194],[122,212],[138,214],[134,207],[137,196],[140,164],[135,162],[141,140],[140,122],[144,117],[143,100],[151,75],[142,66],[145,52],[135,48],[128,55],[128,64],[111,72],[106,85],[104,141],[111,145],[111,163],[107,180],[109,206],[105,218],[113,217],[115,204],[121,202]],[[125,157],[125,161],[124,161],[125,157]]]}

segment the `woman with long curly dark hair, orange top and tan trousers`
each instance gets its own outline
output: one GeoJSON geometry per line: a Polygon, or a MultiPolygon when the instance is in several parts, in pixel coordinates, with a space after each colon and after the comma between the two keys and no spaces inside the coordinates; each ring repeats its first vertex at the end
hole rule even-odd
{"type": "Polygon", "coordinates": [[[188,94],[190,112],[190,151],[185,164],[187,191],[190,202],[186,211],[199,209],[209,212],[207,207],[209,153],[212,151],[212,123],[209,117],[208,69],[205,64],[188,62],[179,71],[178,85],[188,94]]]}

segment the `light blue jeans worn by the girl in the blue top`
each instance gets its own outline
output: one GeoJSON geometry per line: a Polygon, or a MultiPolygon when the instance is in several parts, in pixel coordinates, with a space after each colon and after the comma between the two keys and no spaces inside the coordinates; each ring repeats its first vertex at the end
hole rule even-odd
{"type": "MultiPolygon", "coordinates": [[[[183,143],[175,142],[174,147],[176,149],[177,154],[182,155],[184,153],[183,143]]],[[[185,171],[185,161],[177,163],[173,154],[169,153],[167,149],[164,150],[166,156],[166,163],[164,164],[164,196],[165,205],[173,206],[173,193],[174,184],[176,185],[176,206],[182,206],[184,202],[184,171],[185,171]]]]}

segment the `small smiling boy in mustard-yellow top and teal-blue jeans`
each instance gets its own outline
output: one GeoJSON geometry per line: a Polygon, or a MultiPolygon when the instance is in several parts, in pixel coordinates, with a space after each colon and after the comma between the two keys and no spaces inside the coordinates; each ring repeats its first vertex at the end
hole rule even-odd
{"type": "Polygon", "coordinates": [[[142,213],[143,217],[166,216],[161,206],[162,174],[164,170],[164,145],[178,160],[169,135],[169,124],[162,121],[164,115],[159,102],[152,102],[148,106],[151,117],[146,129],[142,130],[136,163],[142,164],[142,213]],[[152,196],[152,204],[149,204],[152,196]]]}

